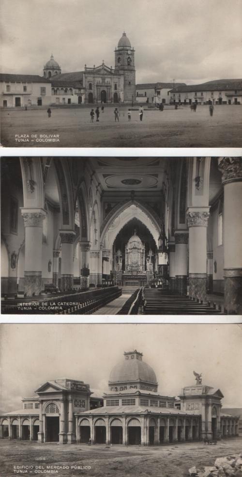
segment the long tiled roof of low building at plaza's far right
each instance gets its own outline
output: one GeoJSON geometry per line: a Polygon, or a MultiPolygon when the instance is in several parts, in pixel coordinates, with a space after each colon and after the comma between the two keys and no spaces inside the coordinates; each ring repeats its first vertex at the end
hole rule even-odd
{"type": "Polygon", "coordinates": [[[201,84],[176,86],[171,93],[186,93],[190,91],[222,91],[242,89],[242,79],[217,79],[201,84]]]}

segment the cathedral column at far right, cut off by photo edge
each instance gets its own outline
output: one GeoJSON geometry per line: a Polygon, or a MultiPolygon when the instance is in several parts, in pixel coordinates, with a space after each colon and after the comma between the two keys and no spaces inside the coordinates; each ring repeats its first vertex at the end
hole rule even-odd
{"type": "Polygon", "coordinates": [[[219,160],[224,184],[225,307],[242,315],[242,158],[219,160]]]}

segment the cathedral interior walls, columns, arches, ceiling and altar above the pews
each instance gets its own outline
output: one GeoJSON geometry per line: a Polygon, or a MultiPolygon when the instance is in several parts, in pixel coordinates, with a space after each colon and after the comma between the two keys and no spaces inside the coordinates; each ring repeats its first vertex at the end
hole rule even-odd
{"type": "Polygon", "coordinates": [[[1,293],[157,286],[242,313],[242,159],[1,159],[1,293]]]}

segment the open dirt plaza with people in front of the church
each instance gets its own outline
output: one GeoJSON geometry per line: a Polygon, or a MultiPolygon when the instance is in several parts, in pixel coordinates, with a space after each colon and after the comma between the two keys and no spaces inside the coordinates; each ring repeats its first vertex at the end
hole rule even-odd
{"type": "MultiPolygon", "coordinates": [[[[47,108],[46,108],[47,109],[47,108]]],[[[52,108],[47,117],[39,110],[11,109],[1,111],[1,144],[11,147],[241,147],[242,106],[189,106],[178,110],[145,110],[143,121],[138,111],[132,111],[128,122],[128,107],[121,106],[120,122],[114,121],[114,108],[106,107],[100,122],[90,123],[88,107],[52,108]],[[15,135],[27,135],[21,139],[15,135]],[[59,134],[60,142],[40,141],[40,134],[59,134]],[[31,137],[31,135],[36,137],[31,137]],[[24,140],[29,139],[29,142],[24,140]]],[[[51,139],[51,138],[50,138],[51,139]]]]}

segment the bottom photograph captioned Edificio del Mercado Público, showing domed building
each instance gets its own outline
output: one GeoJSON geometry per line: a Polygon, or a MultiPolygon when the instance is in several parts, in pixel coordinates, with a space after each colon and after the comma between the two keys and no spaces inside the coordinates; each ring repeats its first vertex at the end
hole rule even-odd
{"type": "Polygon", "coordinates": [[[236,324],[2,324],[1,476],[239,476],[241,341],[236,324]]]}

